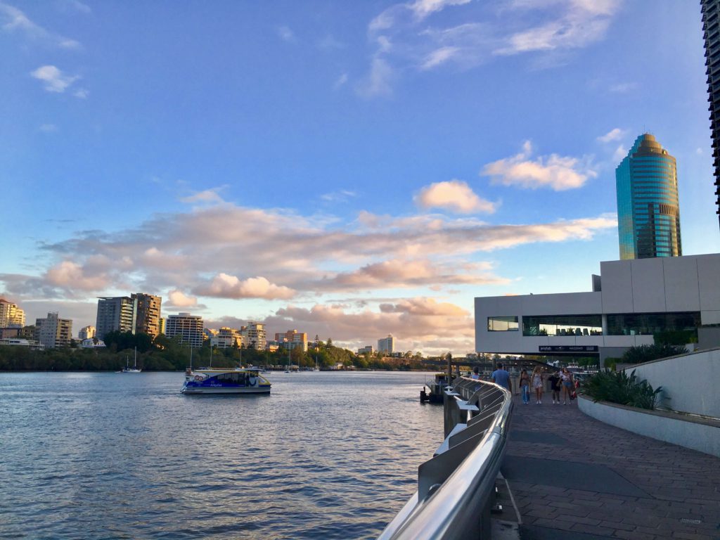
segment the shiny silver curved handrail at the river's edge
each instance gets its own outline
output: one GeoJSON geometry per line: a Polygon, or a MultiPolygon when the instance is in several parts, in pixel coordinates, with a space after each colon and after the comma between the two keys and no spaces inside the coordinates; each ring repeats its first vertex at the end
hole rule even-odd
{"type": "MultiPolygon", "coordinates": [[[[462,540],[489,537],[490,505],[495,478],[505,454],[508,423],[513,408],[512,396],[507,389],[497,384],[465,377],[456,379],[453,390],[467,401],[477,400],[479,395],[487,396],[488,393],[498,392],[502,403],[487,431],[482,431],[482,436],[472,436],[420,466],[418,484],[422,485],[423,468],[430,471],[428,474],[434,472],[442,475],[439,472],[443,467],[441,460],[449,464],[453,459],[462,459],[444,482],[426,490],[427,495],[418,487],[418,492],[415,492],[395,519],[382,531],[378,540],[462,540]],[[478,387],[478,383],[482,387],[478,387]],[[447,454],[466,450],[467,454],[464,456],[461,454],[446,457],[447,454]],[[437,465],[433,464],[436,460],[437,465]]],[[[454,400],[454,397],[446,395],[445,407],[454,406],[452,402],[449,405],[450,400],[454,400]]],[[[478,414],[482,414],[482,409],[478,414]]]]}

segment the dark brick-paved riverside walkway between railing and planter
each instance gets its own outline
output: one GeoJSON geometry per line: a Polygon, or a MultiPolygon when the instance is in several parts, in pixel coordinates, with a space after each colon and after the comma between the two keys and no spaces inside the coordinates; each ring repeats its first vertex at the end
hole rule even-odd
{"type": "Polygon", "coordinates": [[[720,540],[720,459],[516,397],[503,474],[523,540],[720,540]]]}

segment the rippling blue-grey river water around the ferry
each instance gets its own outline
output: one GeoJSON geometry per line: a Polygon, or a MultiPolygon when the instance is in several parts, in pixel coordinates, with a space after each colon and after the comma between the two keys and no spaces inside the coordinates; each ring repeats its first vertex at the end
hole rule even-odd
{"type": "Polygon", "coordinates": [[[0,374],[0,538],[374,538],[442,441],[431,374],[0,374]]]}

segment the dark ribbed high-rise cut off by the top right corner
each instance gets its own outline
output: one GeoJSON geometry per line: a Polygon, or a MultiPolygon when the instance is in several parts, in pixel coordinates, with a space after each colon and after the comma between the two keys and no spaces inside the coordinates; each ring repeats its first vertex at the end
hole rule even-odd
{"type": "Polygon", "coordinates": [[[705,73],[708,76],[715,196],[720,218],[720,0],[701,0],[700,4],[705,38],[705,73]]]}

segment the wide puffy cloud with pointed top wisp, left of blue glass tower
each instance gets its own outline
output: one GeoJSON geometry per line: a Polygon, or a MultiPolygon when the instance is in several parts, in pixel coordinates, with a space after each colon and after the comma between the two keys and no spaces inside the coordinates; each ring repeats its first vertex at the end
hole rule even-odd
{"type": "Polygon", "coordinates": [[[598,176],[588,165],[587,158],[580,160],[551,154],[532,159],[532,153],[532,144],[528,140],[521,153],[488,163],[480,174],[492,177],[493,184],[526,189],[549,187],[556,192],[582,187],[588,178],[598,176]]]}

